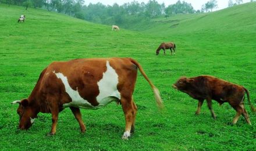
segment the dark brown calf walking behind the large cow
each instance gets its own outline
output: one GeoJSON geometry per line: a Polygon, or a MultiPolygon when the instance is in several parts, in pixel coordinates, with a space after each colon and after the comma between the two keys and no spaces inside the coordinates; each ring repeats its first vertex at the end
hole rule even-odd
{"type": "Polygon", "coordinates": [[[220,105],[224,102],[228,102],[236,110],[236,116],[233,119],[233,124],[237,123],[237,120],[241,114],[246,118],[248,124],[251,125],[251,121],[248,117],[246,109],[244,108],[244,96],[247,94],[248,102],[250,103],[251,110],[256,112],[256,109],[251,105],[249,92],[246,88],[232,84],[230,82],[221,80],[212,76],[198,76],[193,78],[180,78],[173,88],[179,91],[185,92],[192,98],[198,100],[197,112],[199,114],[202,103],[207,100],[207,105],[213,118],[216,118],[214,110],[212,109],[212,99],[219,102],[220,105]]]}

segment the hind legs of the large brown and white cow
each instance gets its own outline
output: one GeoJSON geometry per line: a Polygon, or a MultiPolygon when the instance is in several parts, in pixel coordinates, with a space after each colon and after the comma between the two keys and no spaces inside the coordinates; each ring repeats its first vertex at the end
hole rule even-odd
{"type": "Polygon", "coordinates": [[[125,132],[123,133],[122,139],[128,139],[131,135],[131,127],[134,129],[134,122],[136,116],[136,107],[133,105],[131,99],[121,99],[123,112],[125,113],[125,132]]]}

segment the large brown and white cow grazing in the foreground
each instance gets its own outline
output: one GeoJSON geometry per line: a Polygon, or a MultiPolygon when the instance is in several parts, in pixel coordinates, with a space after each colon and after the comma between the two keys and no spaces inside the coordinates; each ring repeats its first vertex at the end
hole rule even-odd
{"type": "Polygon", "coordinates": [[[137,112],[132,97],[137,68],[153,89],[157,105],[162,107],[158,89],[134,59],[114,57],[54,62],[42,71],[29,98],[12,102],[19,103],[19,128],[30,128],[39,112],[51,113],[49,135],[54,135],[59,112],[69,107],[79,122],[81,132],[85,132],[79,108],[99,109],[115,101],[122,105],[125,113],[126,127],[122,138],[129,138],[134,132],[137,112]]]}

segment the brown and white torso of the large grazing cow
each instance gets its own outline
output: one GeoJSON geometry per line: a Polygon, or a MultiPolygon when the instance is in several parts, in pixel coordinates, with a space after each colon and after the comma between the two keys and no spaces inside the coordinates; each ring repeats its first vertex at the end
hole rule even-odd
{"type": "Polygon", "coordinates": [[[101,105],[101,101],[103,104],[110,101],[109,98],[120,99],[123,91],[130,95],[136,77],[137,67],[129,58],[54,62],[44,71],[40,95],[58,99],[61,105],[70,102],[84,104],[86,101],[90,108],[101,105]]]}

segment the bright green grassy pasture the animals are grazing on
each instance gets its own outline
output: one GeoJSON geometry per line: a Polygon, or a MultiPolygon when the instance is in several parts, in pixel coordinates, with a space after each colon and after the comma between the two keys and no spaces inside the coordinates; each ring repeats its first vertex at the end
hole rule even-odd
{"type": "MultiPolygon", "coordinates": [[[[111,31],[111,26],[88,23],[69,16],[0,4],[0,150],[255,150],[256,116],[252,126],[243,117],[230,124],[236,112],[227,103],[206,104],[199,116],[197,100],[171,88],[180,76],[210,74],[250,91],[256,98],[256,2],[218,12],[155,19],[143,31],[111,31]],[[17,23],[20,15],[25,23],[17,23]],[[163,41],[174,41],[175,56],[155,55],[163,41]],[[153,93],[138,74],[134,100],[138,106],[136,133],[122,140],[125,117],[111,103],[99,110],[81,110],[87,125],[80,134],[70,109],[59,114],[57,133],[51,114],[38,114],[27,131],[17,130],[17,105],[27,98],[41,71],[56,60],[87,57],[133,57],[161,91],[165,110],[158,112],[153,93]]],[[[134,30],[135,27],[132,27],[134,30]]],[[[247,100],[246,100],[247,102],[247,100]]]]}

